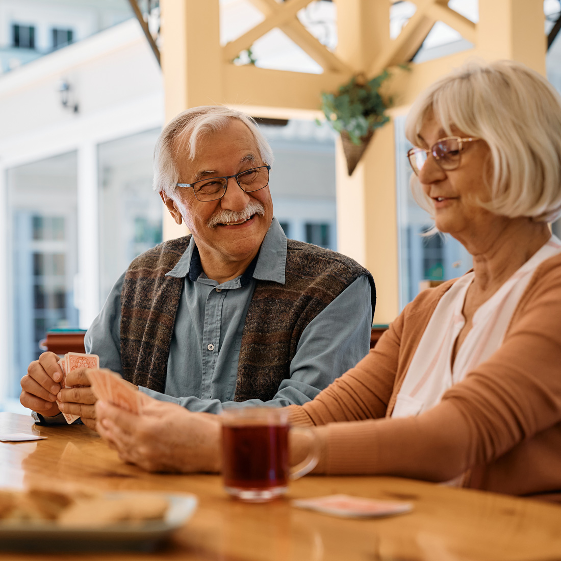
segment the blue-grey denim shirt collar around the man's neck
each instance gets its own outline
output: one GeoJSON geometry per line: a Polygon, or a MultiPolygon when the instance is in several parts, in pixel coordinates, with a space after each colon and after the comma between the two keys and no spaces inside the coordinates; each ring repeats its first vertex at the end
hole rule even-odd
{"type": "MultiPolygon", "coordinates": [[[[286,236],[276,218],[273,217],[268,232],[255,259],[243,273],[240,284],[245,286],[251,277],[258,280],[272,280],[284,284],[284,269],[286,267],[286,236]]],[[[199,249],[195,239],[191,237],[187,249],[177,261],[176,266],[165,274],[166,277],[185,278],[195,282],[203,272],[199,249]]]]}

